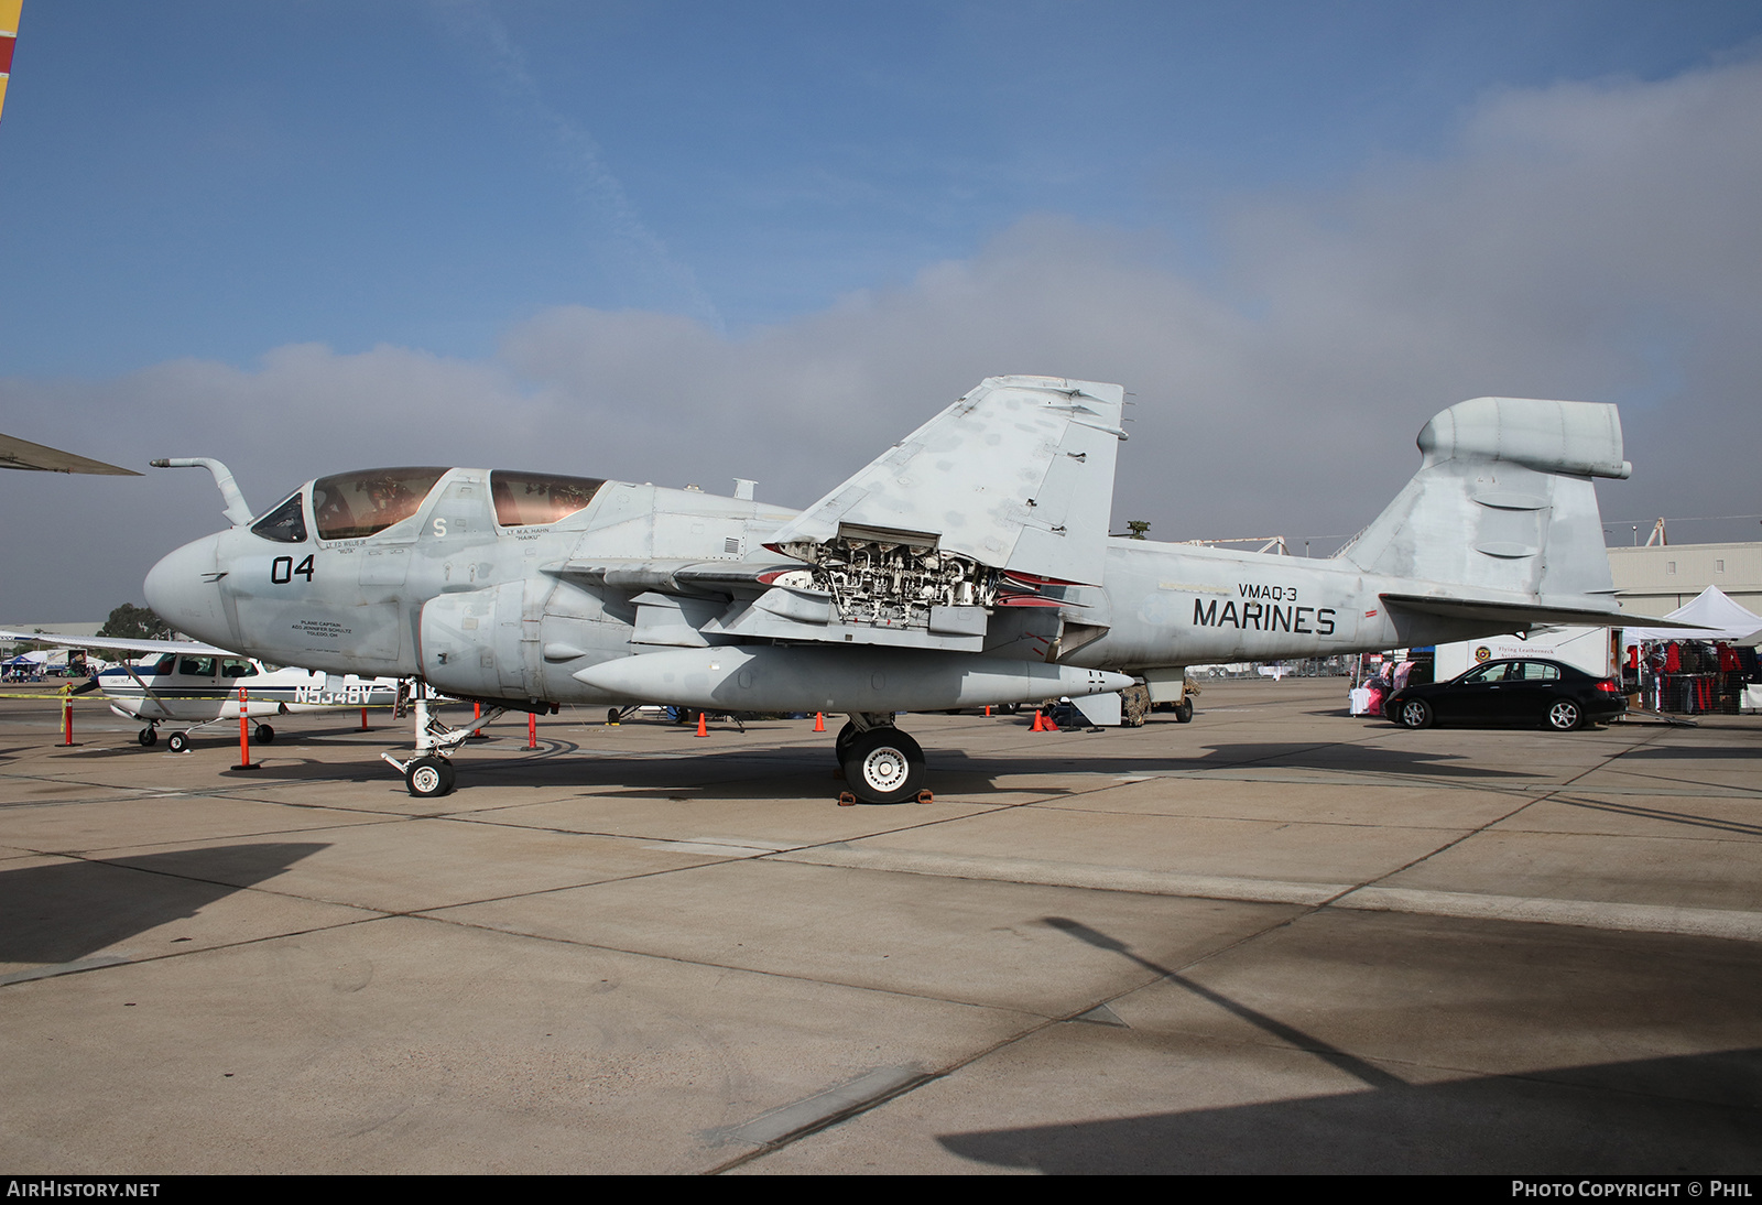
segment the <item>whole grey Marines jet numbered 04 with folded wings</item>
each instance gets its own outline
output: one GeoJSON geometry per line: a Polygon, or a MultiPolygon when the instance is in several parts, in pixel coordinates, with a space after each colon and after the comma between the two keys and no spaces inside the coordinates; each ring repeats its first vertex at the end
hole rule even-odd
{"type": "MultiPolygon", "coordinates": [[[[1195,662],[1619,620],[1593,488],[1630,472],[1612,405],[1443,410],[1413,481],[1327,560],[1108,537],[1122,405],[990,377],[800,513],[425,467],[319,477],[255,518],[218,462],[155,462],[208,467],[233,527],[160,560],[146,597],[226,648],[495,708],[844,712],[835,752],[870,803],[923,789],[900,712],[1068,696],[1135,717],[1195,662]]],[[[386,759],[446,795],[467,735],[418,703],[416,756],[386,759]]]]}

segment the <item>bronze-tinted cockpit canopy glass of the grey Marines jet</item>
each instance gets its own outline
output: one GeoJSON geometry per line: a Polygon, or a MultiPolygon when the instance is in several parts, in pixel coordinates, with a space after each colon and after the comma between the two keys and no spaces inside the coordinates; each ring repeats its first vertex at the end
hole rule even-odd
{"type": "MultiPolygon", "coordinates": [[[[365,539],[421,509],[448,469],[366,469],[312,483],[312,520],[319,539],[365,539]]],[[[490,497],[500,527],[555,523],[587,507],[606,483],[544,472],[490,474],[490,497]]],[[[305,488],[257,520],[254,534],[278,544],[307,541],[305,488]]]]}

